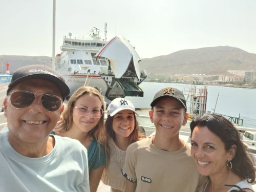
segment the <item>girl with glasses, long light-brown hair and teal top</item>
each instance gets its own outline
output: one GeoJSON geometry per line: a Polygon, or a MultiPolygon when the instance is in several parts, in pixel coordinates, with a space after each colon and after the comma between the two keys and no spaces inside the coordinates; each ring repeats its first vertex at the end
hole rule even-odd
{"type": "Polygon", "coordinates": [[[105,134],[103,134],[104,108],[99,91],[92,87],[80,87],[70,97],[61,120],[57,123],[57,135],[79,140],[88,151],[90,190],[97,190],[106,164],[105,134]]]}

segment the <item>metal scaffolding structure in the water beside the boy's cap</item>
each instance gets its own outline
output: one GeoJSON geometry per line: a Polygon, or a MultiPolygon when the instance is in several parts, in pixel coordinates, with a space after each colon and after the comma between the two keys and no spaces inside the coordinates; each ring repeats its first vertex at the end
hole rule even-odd
{"type": "Polygon", "coordinates": [[[184,88],[183,94],[186,99],[187,113],[190,118],[206,113],[207,86],[202,88],[197,88],[197,86],[184,88]]]}

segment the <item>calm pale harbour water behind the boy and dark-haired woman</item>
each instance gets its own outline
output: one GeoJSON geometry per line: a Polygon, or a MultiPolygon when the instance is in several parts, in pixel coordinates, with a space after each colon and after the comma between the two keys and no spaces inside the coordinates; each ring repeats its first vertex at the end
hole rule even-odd
{"type": "MultiPolygon", "coordinates": [[[[179,90],[190,88],[191,84],[142,82],[140,88],[144,97],[126,97],[135,105],[135,108],[150,108],[150,103],[156,92],[165,87],[173,87],[179,90]]],[[[203,86],[197,86],[202,88],[203,86]]],[[[256,89],[231,88],[221,86],[207,86],[206,111],[222,115],[240,117],[243,126],[256,129],[256,89]],[[219,97],[218,97],[219,94],[219,97]],[[218,97],[218,100],[217,100],[218,97]]],[[[147,115],[147,110],[142,114],[147,115]]]]}

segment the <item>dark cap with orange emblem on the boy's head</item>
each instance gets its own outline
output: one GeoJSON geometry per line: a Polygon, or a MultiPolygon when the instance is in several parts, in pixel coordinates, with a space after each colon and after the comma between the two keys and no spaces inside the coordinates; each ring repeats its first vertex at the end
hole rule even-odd
{"type": "Polygon", "coordinates": [[[152,106],[152,108],[156,104],[156,102],[159,101],[163,97],[174,97],[174,98],[178,99],[184,106],[185,110],[187,111],[186,99],[185,99],[183,93],[176,88],[163,88],[160,91],[158,91],[155,94],[152,103],[150,104],[152,106]]]}

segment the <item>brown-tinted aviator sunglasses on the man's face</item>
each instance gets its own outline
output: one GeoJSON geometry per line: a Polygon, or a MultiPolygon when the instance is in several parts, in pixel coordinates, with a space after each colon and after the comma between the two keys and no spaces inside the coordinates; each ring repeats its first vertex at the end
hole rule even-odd
{"type": "Polygon", "coordinates": [[[62,101],[59,97],[45,93],[14,91],[9,95],[11,104],[16,109],[27,108],[33,103],[36,96],[40,97],[42,106],[48,112],[55,112],[62,105],[62,101]]]}

